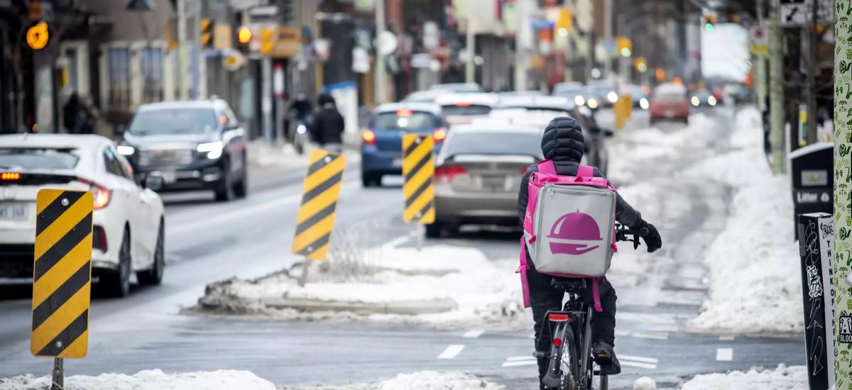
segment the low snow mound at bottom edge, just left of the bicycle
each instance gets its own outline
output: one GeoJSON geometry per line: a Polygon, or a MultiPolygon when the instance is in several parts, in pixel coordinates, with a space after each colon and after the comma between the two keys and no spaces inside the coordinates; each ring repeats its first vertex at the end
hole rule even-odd
{"type": "Polygon", "coordinates": [[[503,390],[505,387],[486,381],[479,376],[458,371],[420,371],[400,374],[394,379],[379,383],[343,386],[280,387],[280,390],[503,390]]]}

